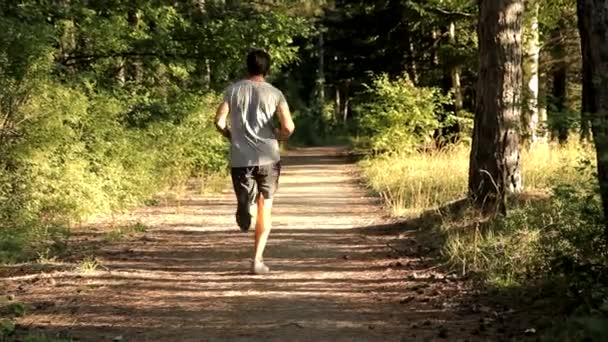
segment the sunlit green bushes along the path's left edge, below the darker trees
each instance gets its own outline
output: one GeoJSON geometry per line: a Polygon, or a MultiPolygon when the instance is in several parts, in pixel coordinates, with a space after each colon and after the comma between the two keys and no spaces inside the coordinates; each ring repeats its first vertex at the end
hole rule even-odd
{"type": "Polygon", "coordinates": [[[17,108],[23,119],[14,137],[0,148],[0,260],[32,258],[65,236],[61,227],[223,172],[227,144],[212,122],[218,101],[183,93],[163,102],[170,119],[136,126],[124,118],[142,98],[40,81],[17,108]]]}

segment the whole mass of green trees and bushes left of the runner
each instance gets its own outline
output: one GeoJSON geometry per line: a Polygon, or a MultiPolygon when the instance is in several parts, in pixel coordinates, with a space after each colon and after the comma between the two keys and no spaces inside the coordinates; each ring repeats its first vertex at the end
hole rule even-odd
{"type": "Polygon", "coordinates": [[[89,215],[225,174],[217,91],[251,47],[297,61],[310,25],[287,5],[0,0],[0,262],[52,258],[89,215]]]}

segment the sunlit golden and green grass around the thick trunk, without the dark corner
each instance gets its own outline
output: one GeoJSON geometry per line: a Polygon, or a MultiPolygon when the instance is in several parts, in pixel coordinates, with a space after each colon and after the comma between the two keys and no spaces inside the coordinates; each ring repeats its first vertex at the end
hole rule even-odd
{"type": "Polygon", "coordinates": [[[446,204],[466,196],[468,146],[379,156],[362,166],[368,185],[393,215],[425,217],[421,214],[441,209],[441,222],[426,230],[461,274],[510,287],[555,270],[556,260],[604,263],[594,252],[601,249],[603,225],[592,148],[578,142],[538,144],[521,158],[524,192],[509,197],[507,217],[494,218],[466,205],[457,215],[446,214],[446,204]]]}

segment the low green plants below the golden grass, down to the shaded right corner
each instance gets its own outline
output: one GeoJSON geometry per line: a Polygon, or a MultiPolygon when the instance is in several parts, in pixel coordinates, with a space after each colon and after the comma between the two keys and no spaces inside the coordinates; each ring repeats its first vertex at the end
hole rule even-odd
{"type": "Polygon", "coordinates": [[[444,251],[456,269],[499,287],[548,283],[561,301],[576,303],[571,317],[557,322],[543,341],[603,341],[608,332],[602,205],[593,165],[582,165],[580,183],[557,185],[551,197],[525,201],[474,233],[447,231],[444,251]]]}

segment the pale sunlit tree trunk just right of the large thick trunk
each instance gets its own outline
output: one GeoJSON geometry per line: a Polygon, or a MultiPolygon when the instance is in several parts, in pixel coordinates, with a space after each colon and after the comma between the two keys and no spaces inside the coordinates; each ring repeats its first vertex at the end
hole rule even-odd
{"type": "Polygon", "coordinates": [[[525,103],[522,115],[522,137],[527,143],[535,143],[539,138],[543,138],[543,131],[539,131],[539,126],[546,123],[540,121],[540,109],[538,98],[540,93],[540,33],[538,29],[538,14],[540,4],[538,1],[528,2],[527,10],[531,13],[530,21],[526,26],[524,54],[524,85],[525,103]]]}

